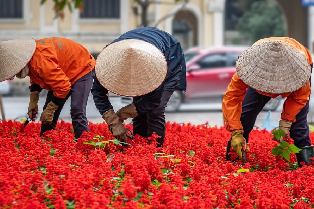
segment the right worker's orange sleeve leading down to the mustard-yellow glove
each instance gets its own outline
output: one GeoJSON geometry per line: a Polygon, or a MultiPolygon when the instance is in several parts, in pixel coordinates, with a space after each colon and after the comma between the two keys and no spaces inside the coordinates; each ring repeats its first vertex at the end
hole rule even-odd
{"type": "Polygon", "coordinates": [[[222,112],[228,131],[243,129],[240,118],[242,101],[246,95],[247,87],[248,86],[240,79],[238,74],[235,73],[222,101],[222,112]]]}

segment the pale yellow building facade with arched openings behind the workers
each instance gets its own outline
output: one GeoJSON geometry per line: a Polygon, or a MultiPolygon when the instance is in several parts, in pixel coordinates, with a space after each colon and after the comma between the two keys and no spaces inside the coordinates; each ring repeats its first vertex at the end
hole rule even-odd
{"type": "MultiPolygon", "coordinates": [[[[225,44],[228,0],[154,1],[148,7],[148,25],[176,36],[184,50],[225,44]]],[[[286,36],[297,39],[313,52],[313,7],[303,7],[301,0],[276,1],[286,18],[286,36]]],[[[0,41],[64,37],[82,44],[96,56],[121,34],[141,26],[141,7],[133,0],[85,0],[83,13],[78,9],[71,13],[65,8],[63,19],[54,18],[53,1],[44,5],[40,2],[0,0],[0,41]]]]}

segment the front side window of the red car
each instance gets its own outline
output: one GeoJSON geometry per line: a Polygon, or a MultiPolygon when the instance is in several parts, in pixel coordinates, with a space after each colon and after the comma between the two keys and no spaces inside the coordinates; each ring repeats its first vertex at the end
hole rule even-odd
{"type": "Polygon", "coordinates": [[[227,56],[225,53],[210,54],[197,62],[201,69],[219,68],[227,66],[227,56]]]}

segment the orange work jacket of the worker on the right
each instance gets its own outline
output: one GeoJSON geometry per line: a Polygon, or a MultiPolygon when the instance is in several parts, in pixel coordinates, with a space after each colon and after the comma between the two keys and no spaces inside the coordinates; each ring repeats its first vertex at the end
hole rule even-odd
{"type": "MultiPolygon", "coordinates": [[[[310,52],[302,44],[300,44],[298,41],[292,38],[288,37],[266,38],[258,40],[253,45],[275,40],[279,40],[284,44],[288,44],[295,50],[299,51],[309,61],[309,65],[312,64],[310,52]]],[[[240,117],[242,112],[242,101],[244,100],[244,97],[246,95],[246,89],[248,87],[249,86],[246,85],[240,79],[237,73],[233,75],[231,82],[227,87],[227,91],[225,92],[224,99],[222,102],[222,111],[226,122],[226,129],[228,131],[243,129],[240,117]]],[[[301,111],[301,109],[306,105],[306,102],[309,100],[311,87],[310,82],[307,81],[307,83],[300,89],[289,93],[272,94],[265,93],[262,91],[257,92],[272,98],[278,96],[281,96],[283,98],[287,97],[283,105],[281,119],[294,123],[295,116],[301,111]]]]}

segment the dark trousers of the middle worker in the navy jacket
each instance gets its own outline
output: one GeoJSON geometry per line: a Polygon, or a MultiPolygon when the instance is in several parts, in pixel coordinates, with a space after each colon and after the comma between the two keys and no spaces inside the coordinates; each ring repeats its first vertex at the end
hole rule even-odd
{"type": "MultiPolygon", "coordinates": [[[[157,107],[154,109],[138,115],[133,118],[133,133],[139,134],[141,137],[150,137],[155,132],[161,138],[157,138],[160,146],[164,143],[166,132],[165,109],[168,101],[174,91],[164,91],[162,99],[157,107]]],[[[133,102],[136,102],[141,97],[133,97],[133,102]]]]}

